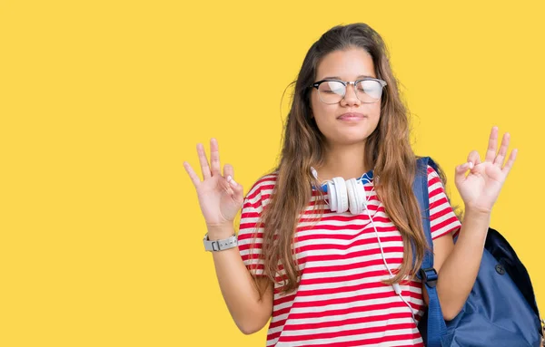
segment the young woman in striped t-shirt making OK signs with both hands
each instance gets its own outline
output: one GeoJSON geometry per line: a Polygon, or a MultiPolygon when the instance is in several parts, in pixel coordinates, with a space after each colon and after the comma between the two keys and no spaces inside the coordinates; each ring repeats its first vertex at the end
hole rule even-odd
{"type": "MultiPolygon", "coordinates": [[[[506,133],[498,151],[493,128],[485,159],[472,151],[456,168],[461,222],[441,170],[428,168],[446,320],[460,312],[475,281],[490,210],[516,157],[515,149],[504,164],[509,141],[506,133]]],[[[197,145],[203,180],[184,167],[225,303],[243,333],[272,317],[267,346],[422,345],[417,323],[428,299],[414,276],[426,249],[411,189],[417,158],[379,34],[349,24],[312,44],[295,82],[280,165],[245,198],[233,167],[221,171],[217,141],[210,146],[209,164],[197,145]],[[344,202],[343,193],[350,195],[344,202]],[[237,240],[233,219],[241,206],[237,240]]]]}

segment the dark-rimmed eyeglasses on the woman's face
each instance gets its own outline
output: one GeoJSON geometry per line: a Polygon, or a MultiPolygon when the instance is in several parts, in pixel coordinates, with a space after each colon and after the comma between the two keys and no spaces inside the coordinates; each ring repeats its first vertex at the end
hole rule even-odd
{"type": "Polygon", "coordinates": [[[386,82],[376,78],[365,78],[354,82],[344,82],[340,80],[322,80],[312,84],[312,88],[318,90],[320,100],[323,103],[333,104],[342,101],[346,95],[346,86],[352,84],[356,97],[364,103],[379,101],[382,95],[382,89],[386,82]]]}

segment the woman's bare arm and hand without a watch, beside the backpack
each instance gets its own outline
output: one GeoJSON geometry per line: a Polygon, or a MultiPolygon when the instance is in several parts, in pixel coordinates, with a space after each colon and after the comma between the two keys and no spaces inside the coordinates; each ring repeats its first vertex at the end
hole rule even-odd
{"type": "MultiPolygon", "coordinates": [[[[498,129],[492,128],[485,161],[481,162],[479,154],[472,151],[468,162],[456,168],[456,187],[465,204],[456,245],[451,237],[441,236],[433,241],[434,267],[439,274],[437,294],[445,320],[460,313],[471,293],[481,265],[491,209],[516,159],[517,150],[514,149],[504,166],[510,136],[508,133],[503,136],[496,155],[497,140],[498,129]],[[466,176],[468,169],[470,173],[466,176]]],[[[424,293],[424,301],[428,304],[427,293],[424,293]]]]}

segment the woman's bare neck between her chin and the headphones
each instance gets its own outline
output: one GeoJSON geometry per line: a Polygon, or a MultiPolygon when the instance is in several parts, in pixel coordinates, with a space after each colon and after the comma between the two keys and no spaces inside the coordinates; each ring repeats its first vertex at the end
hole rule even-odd
{"type": "Polygon", "coordinates": [[[315,168],[318,171],[318,177],[322,181],[334,177],[360,178],[363,173],[371,169],[365,168],[364,153],[364,142],[342,146],[328,144],[323,165],[315,168]]]}

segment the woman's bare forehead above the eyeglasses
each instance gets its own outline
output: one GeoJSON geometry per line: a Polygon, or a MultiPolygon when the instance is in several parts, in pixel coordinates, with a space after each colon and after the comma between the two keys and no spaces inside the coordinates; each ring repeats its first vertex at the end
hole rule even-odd
{"type": "Polygon", "coordinates": [[[376,77],[371,54],[362,48],[350,48],[326,54],[316,70],[317,80],[328,77],[352,81],[359,76],[376,77]]]}

